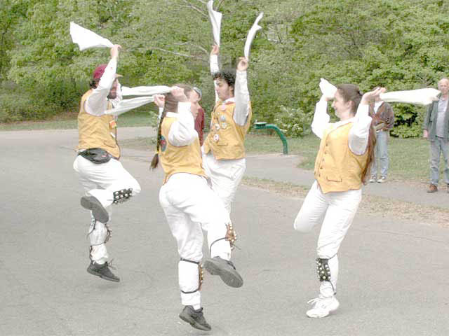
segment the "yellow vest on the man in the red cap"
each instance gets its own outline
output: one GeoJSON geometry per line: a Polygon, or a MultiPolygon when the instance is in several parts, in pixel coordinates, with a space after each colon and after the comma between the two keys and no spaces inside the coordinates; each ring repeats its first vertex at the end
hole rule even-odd
{"type": "MultiPolygon", "coordinates": [[[[84,109],[84,103],[92,92],[93,90],[88,90],[81,98],[78,115],[79,140],[76,149],[102,148],[114,156],[114,158],[119,158],[120,147],[115,138],[117,126],[114,116],[92,116],[84,109]]],[[[107,104],[109,108],[110,103],[108,102],[107,104]]]]}

